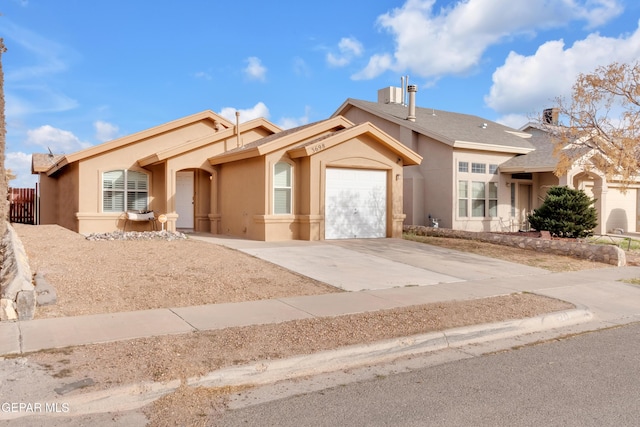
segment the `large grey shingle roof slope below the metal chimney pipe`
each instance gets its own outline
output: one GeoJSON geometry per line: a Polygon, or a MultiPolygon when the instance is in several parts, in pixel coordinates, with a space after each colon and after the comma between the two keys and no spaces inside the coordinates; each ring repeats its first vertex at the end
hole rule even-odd
{"type": "Polygon", "coordinates": [[[383,104],[352,98],[349,98],[345,104],[351,104],[372,114],[402,123],[417,132],[452,146],[456,142],[473,142],[518,149],[533,148],[528,139],[516,135],[521,133],[517,129],[470,114],[416,107],[416,121],[409,122],[406,120],[408,113],[406,105],[383,104]]]}

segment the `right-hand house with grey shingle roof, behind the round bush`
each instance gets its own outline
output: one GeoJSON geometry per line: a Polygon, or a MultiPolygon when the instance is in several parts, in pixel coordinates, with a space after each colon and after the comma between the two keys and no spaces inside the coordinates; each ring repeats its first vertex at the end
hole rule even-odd
{"type": "MultiPolygon", "coordinates": [[[[404,171],[406,224],[468,231],[528,230],[527,215],[554,185],[579,188],[596,199],[597,234],[640,230],[639,185],[623,189],[580,166],[564,176],[543,127],[513,129],[478,116],[421,108],[417,87],[388,87],[378,101],[347,99],[334,113],[370,122],[422,156],[404,171]]],[[[557,122],[557,111],[545,110],[557,122]],[[555,116],[554,116],[555,115],[555,116]]]]}

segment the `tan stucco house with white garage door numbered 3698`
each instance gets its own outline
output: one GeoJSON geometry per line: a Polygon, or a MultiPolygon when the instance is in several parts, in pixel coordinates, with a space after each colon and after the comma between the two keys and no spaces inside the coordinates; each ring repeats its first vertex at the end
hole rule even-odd
{"type": "Polygon", "coordinates": [[[36,154],[32,172],[40,222],[83,234],[153,210],[170,231],[322,240],[400,237],[402,168],[420,161],[371,123],[332,117],[282,131],[205,111],[77,153],[36,154]]]}

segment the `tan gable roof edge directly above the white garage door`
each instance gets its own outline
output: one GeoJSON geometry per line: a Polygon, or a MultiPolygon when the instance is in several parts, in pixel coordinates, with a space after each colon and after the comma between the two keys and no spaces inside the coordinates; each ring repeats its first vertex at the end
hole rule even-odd
{"type": "MultiPolygon", "coordinates": [[[[334,146],[362,134],[370,134],[376,140],[387,146],[391,151],[402,158],[403,164],[405,166],[419,165],[422,162],[422,156],[420,156],[418,153],[414,152],[404,144],[396,141],[389,134],[370,122],[361,123],[359,125],[345,129],[342,132],[336,133],[335,135],[324,139],[323,142],[325,146],[334,146]]],[[[289,150],[289,155],[292,158],[310,156],[314,153],[314,147],[315,144],[294,148],[292,150],[289,150]]]]}

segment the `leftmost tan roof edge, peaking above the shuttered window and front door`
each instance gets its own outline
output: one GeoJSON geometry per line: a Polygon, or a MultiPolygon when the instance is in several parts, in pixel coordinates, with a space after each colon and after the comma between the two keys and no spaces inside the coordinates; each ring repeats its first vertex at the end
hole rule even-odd
{"type": "Polygon", "coordinates": [[[47,171],[47,175],[52,175],[56,173],[58,170],[62,169],[64,166],[68,165],[69,163],[73,163],[87,157],[95,156],[105,151],[113,150],[115,148],[119,148],[124,145],[130,144],[134,141],[149,138],[151,136],[158,135],[164,132],[168,132],[172,129],[176,129],[190,123],[195,123],[203,119],[217,120],[227,128],[233,128],[233,126],[235,126],[229,120],[214,113],[211,110],[201,111],[199,113],[195,113],[190,116],[182,117],[177,120],[163,123],[161,125],[154,126],[152,128],[133,133],[131,135],[123,136],[122,138],[117,138],[112,141],[105,142],[103,144],[94,145],[93,147],[76,151],[75,153],[67,154],[64,156],[64,158],[60,160],[60,162],[58,162],[57,165],[53,166],[51,169],[47,171]]]}

